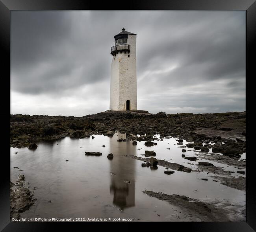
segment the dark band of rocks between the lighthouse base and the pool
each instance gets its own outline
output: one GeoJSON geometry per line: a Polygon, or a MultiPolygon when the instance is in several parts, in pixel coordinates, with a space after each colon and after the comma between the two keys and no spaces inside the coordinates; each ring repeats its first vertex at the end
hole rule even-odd
{"type": "Polygon", "coordinates": [[[111,111],[83,117],[10,115],[10,146],[29,147],[41,140],[52,141],[65,136],[88,138],[92,134],[112,136],[114,131],[126,133],[126,140],[153,141],[174,137],[194,142],[214,142],[217,151],[239,157],[246,151],[246,112],[216,114],[150,114],[145,110],[111,111]],[[228,126],[228,127],[226,127],[228,126]],[[205,133],[202,133],[202,132],[205,133]],[[139,134],[139,137],[132,135],[139,134]],[[231,138],[236,137],[236,140],[231,138]],[[224,144],[221,144],[224,142],[224,144]]]}

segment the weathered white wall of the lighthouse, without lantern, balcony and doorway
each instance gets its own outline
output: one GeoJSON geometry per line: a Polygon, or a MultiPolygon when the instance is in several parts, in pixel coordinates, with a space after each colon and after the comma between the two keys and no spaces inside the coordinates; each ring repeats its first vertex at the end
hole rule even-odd
{"type": "Polygon", "coordinates": [[[136,35],[128,35],[130,53],[118,53],[111,63],[110,110],[137,110],[136,35]],[[130,57],[128,57],[130,55],[130,57]]]}

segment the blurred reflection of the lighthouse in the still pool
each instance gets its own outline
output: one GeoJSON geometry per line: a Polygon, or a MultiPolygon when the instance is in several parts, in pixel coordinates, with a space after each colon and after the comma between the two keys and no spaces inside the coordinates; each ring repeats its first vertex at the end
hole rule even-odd
{"type": "Polygon", "coordinates": [[[135,206],[135,159],[127,159],[123,155],[134,155],[136,146],[131,141],[116,143],[116,140],[126,139],[126,134],[116,132],[110,142],[110,150],[114,155],[110,160],[111,184],[110,193],[114,195],[113,204],[124,208],[135,206]]]}

